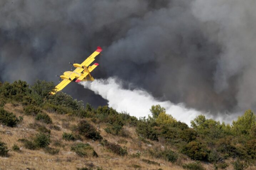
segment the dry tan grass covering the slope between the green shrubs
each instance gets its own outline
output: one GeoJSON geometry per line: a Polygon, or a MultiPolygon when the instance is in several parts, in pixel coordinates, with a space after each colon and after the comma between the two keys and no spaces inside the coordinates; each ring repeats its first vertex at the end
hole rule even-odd
{"type": "MultiPolygon", "coordinates": [[[[76,117],[70,117],[68,115],[57,115],[54,113],[46,112],[52,118],[52,124],[58,125],[61,130],[56,131],[51,129],[51,144],[50,147],[60,149],[59,154],[50,155],[44,152],[43,149],[40,150],[29,150],[22,148],[21,152],[14,152],[11,150],[12,145],[17,144],[19,147],[22,147],[22,143],[17,142],[20,138],[30,139],[34,136],[36,132],[35,129],[32,129],[30,124],[35,123],[33,116],[23,115],[23,108],[21,105],[12,105],[10,103],[4,106],[4,109],[9,112],[13,112],[17,117],[23,116],[23,122],[19,123],[16,127],[10,128],[6,126],[0,126],[0,139],[2,142],[7,144],[9,148],[9,156],[7,158],[0,157],[0,170],[25,170],[26,168],[36,169],[36,170],[76,170],[76,168],[82,167],[102,167],[103,169],[112,169],[112,170],[130,170],[136,169],[133,165],[139,165],[141,170],[157,170],[159,168],[163,170],[181,170],[181,166],[172,164],[168,161],[162,159],[152,158],[150,155],[144,153],[146,149],[150,147],[141,142],[135,133],[135,129],[131,127],[124,127],[127,132],[129,132],[130,137],[118,137],[106,133],[104,124],[95,124],[92,123],[101,133],[101,136],[107,139],[109,142],[119,143],[122,147],[126,147],[128,151],[127,156],[118,156],[114,153],[109,152],[104,148],[100,142],[92,140],[83,140],[84,143],[89,143],[96,153],[99,155],[99,158],[89,157],[81,158],[76,153],[70,151],[70,146],[76,141],[65,141],[62,139],[63,132],[71,132],[69,127],[76,125],[81,119],[76,117]],[[55,146],[55,142],[60,142],[60,146],[55,146]],[[137,151],[142,153],[140,158],[133,158],[131,155],[135,154],[137,151]],[[142,159],[148,159],[155,161],[160,164],[152,165],[147,164],[142,159]]],[[[45,112],[45,111],[44,111],[45,112]]],[[[39,123],[39,122],[37,122],[39,123]]],[[[43,124],[43,123],[40,123],[43,124]]],[[[50,125],[43,124],[47,128],[50,125]]],[[[152,142],[154,148],[161,149],[161,144],[159,142],[152,142]]],[[[191,162],[188,158],[179,160],[179,164],[191,162]]],[[[204,165],[206,169],[214,169],[213,165],[204,165]]],[[[231,167],[231,166],[230,166],[231,167]]],[[[230,168],[229,167],[229,168],[230,168]]]]}

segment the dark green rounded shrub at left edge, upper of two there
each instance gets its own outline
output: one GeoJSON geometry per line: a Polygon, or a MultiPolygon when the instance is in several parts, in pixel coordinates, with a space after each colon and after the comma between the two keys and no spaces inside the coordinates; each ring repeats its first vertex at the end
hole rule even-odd
{"type": "Polygon", "coordinates": [[[17,117],[10,112],[5,111],[3,108],[0,108],[0,122],[6,126],[14,127],[19,120],[17,117]]]}

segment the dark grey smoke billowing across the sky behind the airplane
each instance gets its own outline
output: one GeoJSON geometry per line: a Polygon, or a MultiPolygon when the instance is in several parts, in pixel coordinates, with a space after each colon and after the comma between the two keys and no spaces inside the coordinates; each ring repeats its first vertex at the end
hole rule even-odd
{"type": "MultiPolygon", "coordinates": [[[[255,0],[2,0],[1,81],[58,83],[97,46],[95,78],[217,112],[256,108],[255,0]]],[[[64,91],[105,103],[77,84],[64,91]],[[75,91],[72,89],[75,88],[75,91]],[[93,96],[93,97],[92,97],[93,96]]]]}

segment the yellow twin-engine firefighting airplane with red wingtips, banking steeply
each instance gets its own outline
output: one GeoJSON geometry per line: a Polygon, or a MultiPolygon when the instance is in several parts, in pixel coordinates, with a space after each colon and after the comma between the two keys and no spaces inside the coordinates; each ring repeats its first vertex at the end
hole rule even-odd
{"type": "Polygon", "coordinates": [[[75,81],[76,83],[79,83],[80,81],[93,81],[94,78],[91,76],[90,72],[94,70],[99,64],[94,63],[91,66],[89,65],[95,60],[95,57],[100,54],[101,51],[102,48],[97,47],[96,51],[92,53],[84,62],[82,62],[82,64],[77,64],[75,62],[74,64],[70,63],[76,69],[74,71],[65,71],[63,75],[60,75],[60,79],[63,80],[55,87],[54,91],[51,92],[51,94],[54,95],[56,94],[56,92],[64,89],[64,87],[68,85],[71,81],[75,81]]]}

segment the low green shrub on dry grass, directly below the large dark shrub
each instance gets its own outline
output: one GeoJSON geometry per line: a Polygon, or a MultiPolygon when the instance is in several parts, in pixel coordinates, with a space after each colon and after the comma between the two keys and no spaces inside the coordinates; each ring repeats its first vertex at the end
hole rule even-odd
{"type": "Polygon", "coordinates": [[[77,143],[71,147],[71,150],[81,157],[87,157],[87,156],[98,157],[98,154],[89,144],[77,143]]]}

